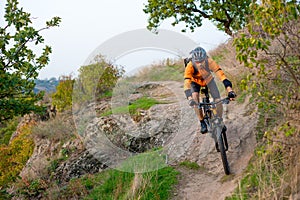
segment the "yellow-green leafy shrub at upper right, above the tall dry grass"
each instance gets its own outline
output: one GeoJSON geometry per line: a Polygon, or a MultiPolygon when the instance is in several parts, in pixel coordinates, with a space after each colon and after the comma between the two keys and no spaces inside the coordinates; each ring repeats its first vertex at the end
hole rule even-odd
{"type": "Polygon", "coordinates": [[[263,112],[285,117],[299,94],[299,2],[264,1],[251,6],[247,31],[235,39],[237,58],[253,76],[244,80],[263,112]]]}

